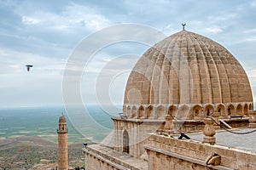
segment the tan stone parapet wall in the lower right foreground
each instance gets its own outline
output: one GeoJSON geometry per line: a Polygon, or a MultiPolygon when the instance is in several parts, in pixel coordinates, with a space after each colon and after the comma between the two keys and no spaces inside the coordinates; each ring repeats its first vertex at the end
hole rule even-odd
{"type": "Polygon", "coordinates": [[[148,153],[148,170],[163,169],[256,169],[256,154],[244,150],[203,144],[201,142],[151,135],[145,145],[148,153]],[[221,157],[220,165],[207,165],[213,153],[221,157]]]}

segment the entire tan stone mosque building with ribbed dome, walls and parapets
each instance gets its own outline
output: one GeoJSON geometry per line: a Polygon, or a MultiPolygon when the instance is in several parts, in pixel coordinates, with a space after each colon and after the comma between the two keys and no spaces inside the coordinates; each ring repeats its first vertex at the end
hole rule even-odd
{"type": "Polygon", "coordinates": [[[238,60],[218,42],[183,29],[138,59],[123,114],[112,118],[113,132],[101,144],[84,148],[85,169],[256,169],[248,136],[236,138],[246,144],[242,149],[218,144],[228,141],[221,133],[253,138],[255,115],[238,60]]]}

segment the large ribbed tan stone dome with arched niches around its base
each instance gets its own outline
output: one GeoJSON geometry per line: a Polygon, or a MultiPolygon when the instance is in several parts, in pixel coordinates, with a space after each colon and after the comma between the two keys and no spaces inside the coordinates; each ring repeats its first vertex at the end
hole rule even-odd
{"type": "Polygon", "coordinates": [[[130,118],[201,119],[247,116],[253,95],[246,72],[230,52],[207,37],[179,31],[149,48],[131,71],[124,114],[130,118]]]}

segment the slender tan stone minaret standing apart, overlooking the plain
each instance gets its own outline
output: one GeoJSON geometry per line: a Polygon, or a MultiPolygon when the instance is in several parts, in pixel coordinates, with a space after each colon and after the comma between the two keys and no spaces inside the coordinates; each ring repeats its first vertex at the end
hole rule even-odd
{"type": "Polygon", "coordinates": [[[59,118],[58,133],[58,169],[67,170],[67,121],[62,114],[59,118]]]}

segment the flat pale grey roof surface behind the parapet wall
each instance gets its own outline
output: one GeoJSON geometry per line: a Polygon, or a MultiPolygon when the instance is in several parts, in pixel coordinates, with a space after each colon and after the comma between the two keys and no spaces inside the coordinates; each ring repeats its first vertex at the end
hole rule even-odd
{"type": "MultiPolygon", "coordinates": [[[[232,132],[246,133],[253,131],[255,128],[239,128],[234,129],[232,132]]],[[[190,139],[202,141],[203,133],[186,133],[190,139]]],[[[235,134],[225,130],[216,131],[216,144],[223,145],[230,148],[236,148],[239,150],[247,150],[256,153],[256,132],[247,134],[235,134]]]]}

